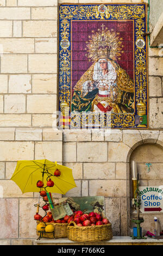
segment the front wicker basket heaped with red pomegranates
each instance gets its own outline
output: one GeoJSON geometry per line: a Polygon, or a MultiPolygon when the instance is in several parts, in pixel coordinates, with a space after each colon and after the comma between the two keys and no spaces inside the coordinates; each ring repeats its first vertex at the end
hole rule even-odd
{"type": "Polygon", "coordinates": [[[102,241],[112,239],[111,223],[101,214],[78,211],[70,217],[67,227],[67,238],[72,241],[102,241]]]}

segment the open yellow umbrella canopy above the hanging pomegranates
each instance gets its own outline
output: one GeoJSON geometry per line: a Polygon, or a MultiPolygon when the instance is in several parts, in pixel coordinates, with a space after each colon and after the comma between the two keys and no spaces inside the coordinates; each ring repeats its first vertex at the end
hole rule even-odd
{"type": "Polygon", "coordinates": [[[36,186],[38,180],[42,180],[43,187],[46,187],[46,191],[51,193],[65,194],[71,188],[76,187],[72,169],[46,159],[17,161],[11,180],[15,181],[22,193],[39,192],[40,188],[36,186]],[[50,176],[54,175],[56,169],[60,170],[60,176],[50,176]],[[46,187],[48,176],[54,182],[53,187],[46,187]]]}

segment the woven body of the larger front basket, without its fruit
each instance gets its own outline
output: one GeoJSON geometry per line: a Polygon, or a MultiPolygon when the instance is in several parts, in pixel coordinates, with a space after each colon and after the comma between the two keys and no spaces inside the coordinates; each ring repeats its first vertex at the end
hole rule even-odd
{"type": "Polygon", "coordinates": [[[111,223],[79,227],[72,221],[67,227],[67,238],[79,242],[110,240],[112,239],[111,223]]]}

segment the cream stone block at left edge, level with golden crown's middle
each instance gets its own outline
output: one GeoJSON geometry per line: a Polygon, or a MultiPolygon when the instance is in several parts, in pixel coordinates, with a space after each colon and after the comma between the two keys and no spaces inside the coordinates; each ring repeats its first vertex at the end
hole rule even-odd
{"type": "Polygon", "coordinates": [[[3,53],[34,53],[34,38],[0,38],[0,45],[3,53]]]}

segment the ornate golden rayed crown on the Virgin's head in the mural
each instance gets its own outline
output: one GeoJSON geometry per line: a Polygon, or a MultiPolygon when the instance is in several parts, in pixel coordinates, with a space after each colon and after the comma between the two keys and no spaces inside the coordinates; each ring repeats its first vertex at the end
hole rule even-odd
{"type": "Polygon", "coordinates": [[[104,25],[102,25],[102,30],[98,29],[98,32],[92,31],[92,33],[89,35],[90,40],[86,42],[87,48],[85,49],[90,61],[96,61],[99,58],[116,60],[121,56],[123,45],[120,33],[115,33],[113,29],[111,31],[108,28],[104,29],[104,25]]]}

